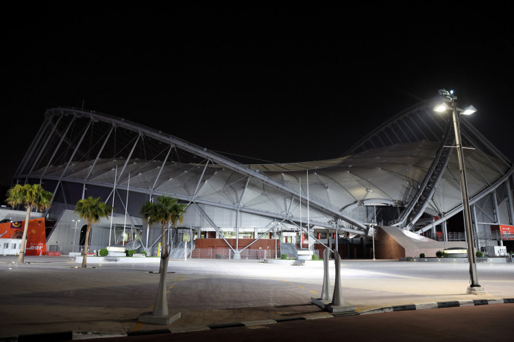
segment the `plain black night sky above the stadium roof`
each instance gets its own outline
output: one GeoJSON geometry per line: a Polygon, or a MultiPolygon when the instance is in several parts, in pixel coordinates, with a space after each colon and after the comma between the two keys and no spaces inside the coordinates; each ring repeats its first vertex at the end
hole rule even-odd
{"type": "Polygon", "coordinates": [[[308,161],[341,156],[446,88],[478,109],[470,120],[514,160],[507,8],[143,3],[45,1],[4,13],[0,185],[58,106],[84,105],[234,159],[308,161]]]}

